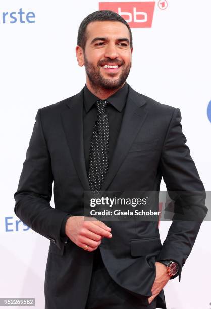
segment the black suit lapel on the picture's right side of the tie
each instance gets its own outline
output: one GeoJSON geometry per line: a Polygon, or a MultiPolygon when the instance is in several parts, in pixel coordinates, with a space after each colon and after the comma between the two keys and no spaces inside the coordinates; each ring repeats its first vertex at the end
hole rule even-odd
{"type": "Polygon", "coordinates": [[[146,120],[147,114],[148,110],[145,98],[129,86],[128,99],[117,145],[101,188],[102,191],[108,188],[118,172],[133,141],[135,140],[135,137],[146,120]]]}

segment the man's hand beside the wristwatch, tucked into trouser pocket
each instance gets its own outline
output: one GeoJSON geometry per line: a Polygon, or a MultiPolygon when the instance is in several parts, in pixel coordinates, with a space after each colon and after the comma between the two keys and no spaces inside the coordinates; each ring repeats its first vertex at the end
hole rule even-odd
{"type": "Polygon", "coordinates": [[[163,287],[167,284],[170,279],[170,275],[167,273],[166,266],[160,262],[155,262],[156,277],[151,289],[152,296],[148,298],[149,304],[152,300],[160,293],[163,287]]]}

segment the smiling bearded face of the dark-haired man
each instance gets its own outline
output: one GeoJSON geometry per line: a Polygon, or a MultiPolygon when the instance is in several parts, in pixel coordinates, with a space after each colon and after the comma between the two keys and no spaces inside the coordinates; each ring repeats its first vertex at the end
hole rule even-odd
{"type": "Polygon", "coordinates": [[[85,51],[80,48],[80,59],[77,58],[79,65],[85,66],[92,87],[120,88],[131,67],[132,49],[127,26],[116,21],[96,21],[88,24],[86,34],[85,51]]]}

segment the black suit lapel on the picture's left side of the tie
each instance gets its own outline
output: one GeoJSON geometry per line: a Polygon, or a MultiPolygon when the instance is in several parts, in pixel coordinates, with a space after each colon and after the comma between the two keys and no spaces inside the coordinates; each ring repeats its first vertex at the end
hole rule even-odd
{"type": "Polygon", "coordinates": [[[84,190],[89,191],[83,141],[83,89],[67,101],[61,120],[68,147],[84,190]]]}

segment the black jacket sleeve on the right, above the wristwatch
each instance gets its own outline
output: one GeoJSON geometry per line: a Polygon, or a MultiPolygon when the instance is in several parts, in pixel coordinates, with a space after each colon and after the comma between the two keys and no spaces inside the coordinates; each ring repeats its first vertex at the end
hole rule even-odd
{"type": "Polygon", "coordinates": [[[180,110],[175,109],[160,161],[168,194],[175,202],[174,216],[161,252],[156,258],[157,261],[177,262],[179,281],[182,267],[192,250],[200,225],[207,213],[204,186],[190,156],[189,148],[185,144],[186,138],[180,122],[180,110]]]}

